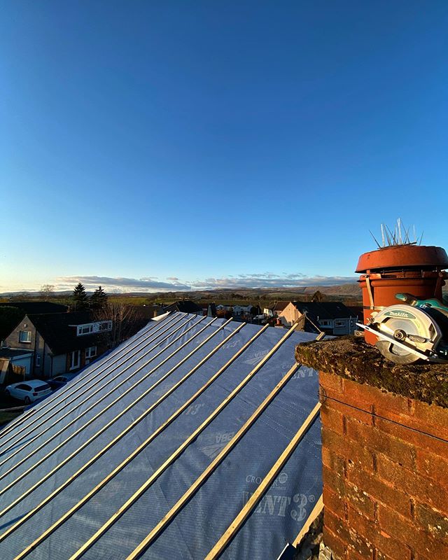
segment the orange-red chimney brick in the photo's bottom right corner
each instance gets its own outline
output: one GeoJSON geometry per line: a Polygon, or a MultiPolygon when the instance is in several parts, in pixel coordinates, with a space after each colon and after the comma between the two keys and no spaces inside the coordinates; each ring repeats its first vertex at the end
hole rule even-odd
{"type": "Polygon", "coordinates": [[[448,546],[430,533],[419,530],[416,524],[398,515],[390,508],[379,505],[378,518],[380,527],[387,533],[400,535],[400,538],[412,549],[430,558],[448,558],[448,546]]]}

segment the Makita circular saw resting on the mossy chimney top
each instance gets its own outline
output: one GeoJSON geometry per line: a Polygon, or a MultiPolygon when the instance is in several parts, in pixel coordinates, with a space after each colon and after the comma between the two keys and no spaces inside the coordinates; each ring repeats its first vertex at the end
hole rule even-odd
{"type": "Polygon", "coordinates": [[[395,297],[402,303],[372,313],[367,325],[358,326],[379,338],[377,348],[394,363],[448,362],[447,305],[409,293],[395,297]]]}

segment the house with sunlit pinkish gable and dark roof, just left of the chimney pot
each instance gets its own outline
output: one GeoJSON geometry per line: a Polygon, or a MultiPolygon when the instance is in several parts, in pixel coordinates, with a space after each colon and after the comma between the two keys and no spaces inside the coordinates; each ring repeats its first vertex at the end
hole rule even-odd
{"type": "Polygon", "coordinates": [[[292,325],[302,315],[329,335],[351,335],[356,330],[357,316],[342,302],[289,302],[279,318],[292,325]]]}

